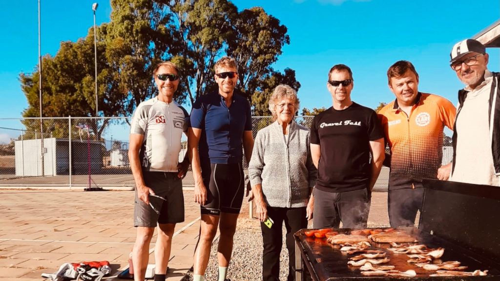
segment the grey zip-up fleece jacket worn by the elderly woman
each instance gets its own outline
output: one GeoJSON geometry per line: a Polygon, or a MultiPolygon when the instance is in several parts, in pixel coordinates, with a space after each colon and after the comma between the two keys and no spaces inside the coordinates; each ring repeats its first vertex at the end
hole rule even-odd
{"type": "Polygon", "coordinates": [[[248,163],[252,186],[260,183],[271,207],[304,207],[317,171],[312,163],[309,129],[291,121],[288,137],[274,121],[257,132],[248,163]]]}

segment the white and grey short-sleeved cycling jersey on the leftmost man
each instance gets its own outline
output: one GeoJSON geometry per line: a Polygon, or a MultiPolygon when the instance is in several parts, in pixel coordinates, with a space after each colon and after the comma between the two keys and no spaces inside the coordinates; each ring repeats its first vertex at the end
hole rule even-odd
{"type": "Polygon", "coordinates": [[[177,102],[158,97],[139,103],[132,115],[130,134],[144,138],[139,152],[143,170],[176,172],[180,137],[187,131],[189,114],[177,102]]]}

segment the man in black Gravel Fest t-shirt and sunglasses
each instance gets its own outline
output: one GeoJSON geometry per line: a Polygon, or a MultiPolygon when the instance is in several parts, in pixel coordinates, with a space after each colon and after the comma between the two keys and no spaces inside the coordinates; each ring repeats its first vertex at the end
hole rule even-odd
{"type": "Polygon", "coordinates": [[[311,125],[312,161],[318,169],[308,205],[314,228],[338,228],[340,221],[344,228],[366,227],[384,140],[375,111],[350,99],[353,85],[347,65],[331,67],[326,86],[333,106],[314,116],[311,125]]]}

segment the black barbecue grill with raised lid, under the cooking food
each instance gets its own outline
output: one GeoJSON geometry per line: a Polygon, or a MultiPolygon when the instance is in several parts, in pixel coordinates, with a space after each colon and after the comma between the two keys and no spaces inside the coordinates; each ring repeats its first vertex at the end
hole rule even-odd
{"type": "MultiPolygon", "coordinates": [[[[324,238],[306,237],[301,229],[295,237],[296,280],[500,280],[500,187],[424,179],[425,189],[418,228],[403,228],[429,248],[444,248],[442,261],[457,260],[468,266],[463,271],[488,270],[486,276],[429,276],[407,262],[406,254],[388,251],[387,243],[371,242],[370,248],[387,252],[396,270],[413,269],[414,277],[365,276],[359,267],[347,265],[349,257],[324,238]]],[[[352,229],[334,229],[348,234],[352,229]]]]}

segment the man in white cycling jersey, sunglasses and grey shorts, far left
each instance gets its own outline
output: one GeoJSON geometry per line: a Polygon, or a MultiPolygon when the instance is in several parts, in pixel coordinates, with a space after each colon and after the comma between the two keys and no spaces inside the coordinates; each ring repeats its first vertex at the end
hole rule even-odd
{"type": "Polygon", "coordinates": [[[128,158],[135,180],[134,226],[137,236],[132,250],[134,280],[144,280],[149,242],[158,226],[154,246],[154,281],[164,281],[175,223],[184,221],[182,181],[188,158],[178,162],[180,137],[187,132],[189,115],[175,102],[178,68],[163,61],[153,71],[158,95],[142,101],[130,124],[128,158]]]}

